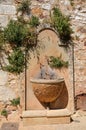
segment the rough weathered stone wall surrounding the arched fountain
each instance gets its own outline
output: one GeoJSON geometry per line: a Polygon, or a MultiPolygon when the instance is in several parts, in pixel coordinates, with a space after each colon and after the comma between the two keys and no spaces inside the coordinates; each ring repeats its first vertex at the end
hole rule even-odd
{"type": "MultiPolygon", "coordinates": [[[[0,0],[0,24],[5,27],[8,21],[16,19],[16,4],[21,0],[0,0]]],[[[74,0],[71,5],[70,0],[31,0],[31,14],[40,18],[41,25],[49,18],[53,7],[59,7],[62,12],[71,19],[74,42],[74,77],[75,94],[86,93],[86,1],[74,0]]],[[[72,55],[72,50],[69,51],[72,55]]],[[[70,56],[69,56],[70,57],[70,56]]],[[[73,66],[70,59],[70,82],[73,84],[73,66]]],[[[0,100],[8,100],[20,95],[21,80],[19,77],[0,71],[0,100]],[[4,79],[4,80],[3,80],[4,79]],[[6,90],[6,93],[3,94],[6,90]],[[4,95],[8,95],[7,97],[4,95]],[[4,97],[3,97],[4,96],[4,97]]],[[[24,95],[24,74],[22,94],[24,95]]]]}

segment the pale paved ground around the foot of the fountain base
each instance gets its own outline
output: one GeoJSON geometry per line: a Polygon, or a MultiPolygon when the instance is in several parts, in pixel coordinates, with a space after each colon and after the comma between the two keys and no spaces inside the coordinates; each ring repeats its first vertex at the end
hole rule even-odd
{"type": "Polygon", "coordinates": [[[77,111],[72,115],[73,121],[70,124],[58,124],[58,125],[35,125],[35,126],[23,126],[20,113],[13,112],[9,115],[8,120],[4,117],[0,118],[0,130],[86,130],[86,111],[77,111]],[[4,127],[7,125],[7,128],[4,127]],[[4,127],[4,129],[2,129],[4,127]],[[8,129],[9,128],[9,129],[8,129]]]}

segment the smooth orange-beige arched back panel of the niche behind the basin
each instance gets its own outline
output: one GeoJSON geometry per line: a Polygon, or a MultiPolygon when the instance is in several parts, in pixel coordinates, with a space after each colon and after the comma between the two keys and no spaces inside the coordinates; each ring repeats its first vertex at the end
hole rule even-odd
{"type": "MultiPolygon", "coordinates": [[[[37,60],[37,57],[34,57],[34,54],[31,55],[31,60],[29,64],[29,68],[27,70],[27,109],[45,109],[43,105],[37,100],[35,97],[32,86],[30,83],[30,78],[33,78],[34,76],[37,75],[37,73],[40,71],[40,63],[44,63],[45,56],[55,56],[59,57],[60,55],[62,56],[63,60],[68,61],[68,51],[64,47],[60,47],[60,40],[57,36],[57,34],[50,29],[44,29],[40,31],[38,35],[38,41],[41,44],[39,48],[39,61],[37,60]]],[[[70,100],[73,100],[73,90],[71,89],[71,84],[70,84],[70,74],[69,74],[69,69],[68,68],[62,68],[62,69],[56,69],[57,74],[60,76],[64,77],[65,82],[64,82],[64,90],[62,91],[60,97],[52,102],[50,104],[51,109],[63,109],[66,107],[69,107],[69,102],[70,100]],[[71,92],[70,92],[71,90],[71,92]]],[[[72,101],[73,102],[73,101],[72,101]]],[[[72,103],[71,102],[71,103],[72,103]]],[[[72,105],[72,104],[71,104],[72,105]]],[[[71,107],[70,107],[71,108],[71,107]]]]}

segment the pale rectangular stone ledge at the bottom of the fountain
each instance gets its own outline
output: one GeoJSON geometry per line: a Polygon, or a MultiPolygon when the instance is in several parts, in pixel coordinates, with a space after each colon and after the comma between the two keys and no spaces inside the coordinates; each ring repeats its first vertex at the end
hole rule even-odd
{"type": "Polygon", "coordinates": [[[70,111],[60,110],[28,110],[23,111],[23,125],[68,124],[71,122],[70,111]]]}

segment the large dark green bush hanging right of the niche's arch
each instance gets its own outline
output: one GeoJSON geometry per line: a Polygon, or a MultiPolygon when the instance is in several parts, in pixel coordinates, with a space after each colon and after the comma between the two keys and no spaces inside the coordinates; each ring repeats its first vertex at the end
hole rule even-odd
{"type": "Polygon", "coordinates": [[[62,43],[68,45],[71,40],[72,29],[70,28],[69,18],[64,16],[59,8],[53,9],[52,22],[54,28],[59,33],[62,43]]]}

